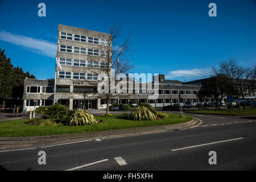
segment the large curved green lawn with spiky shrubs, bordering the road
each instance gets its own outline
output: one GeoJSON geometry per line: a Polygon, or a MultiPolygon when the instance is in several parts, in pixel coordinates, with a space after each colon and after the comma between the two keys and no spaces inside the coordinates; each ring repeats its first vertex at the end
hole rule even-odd
{"type": "Polygon", "coordinates": [[[27,119],[16,119],[0,122],[0,137],[33,137],[42,135],[60,135],[86,133],[93,131],[129,129],[134,127],[170,125],[190,121],[192,118],[188,115],[179,117],[179,114],[168,113],[169,117],[156,119],[155,121],[131,121],[122,119],[122,115],[113,115],[113,117],[96,116],[96,119],[103,119],[104,122],[95,125],[84,126],[35,126],[27,125],[27,119]]]}

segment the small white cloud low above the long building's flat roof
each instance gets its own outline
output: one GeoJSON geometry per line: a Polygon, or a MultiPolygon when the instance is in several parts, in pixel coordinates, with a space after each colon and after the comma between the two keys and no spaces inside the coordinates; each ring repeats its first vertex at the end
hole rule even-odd
{"type": "Polygon", "coordinates": [[[168,72],[166,78],[176,78],[176,77],[185,77],[185,78],[195,78],[195,77],[204,77],[210,75],[210,69],[180,69],[175,71],[168,72]]]}

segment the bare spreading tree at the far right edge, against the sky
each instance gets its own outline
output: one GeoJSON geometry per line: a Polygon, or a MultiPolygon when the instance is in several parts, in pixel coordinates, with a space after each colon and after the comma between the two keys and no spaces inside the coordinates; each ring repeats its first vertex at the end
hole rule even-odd
{"type": "MultiPolygon", "coordinates": [[[[245,98],[255,90],[255,66],[239,65],[236,59],[229,59],[220,63],[219,68],[213,68],[214,75],[224,75],[233,85],[233,93],[245,98]]],[[[245,109],[245,102],[243,104],[245,109]]]]}

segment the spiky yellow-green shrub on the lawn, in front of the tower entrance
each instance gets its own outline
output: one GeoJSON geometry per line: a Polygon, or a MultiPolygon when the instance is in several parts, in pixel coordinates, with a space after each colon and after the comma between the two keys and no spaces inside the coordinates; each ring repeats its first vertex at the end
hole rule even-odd
{"type": "Polygon", "coordinates": [[[97,122],[93,114],[86,110],[75,110],[69,118],[69,125],[92,125],[97,122]]]}

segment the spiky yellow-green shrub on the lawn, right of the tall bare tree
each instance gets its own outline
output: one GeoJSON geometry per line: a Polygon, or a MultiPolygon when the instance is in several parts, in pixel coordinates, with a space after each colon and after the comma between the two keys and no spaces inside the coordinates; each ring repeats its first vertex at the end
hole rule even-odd
{"type": "Polygon", "coordinates": [[[142,120],[155,120],[155,114],[152,113],[147,107],[137,106],[133,109],[130,115],[131,119],[142,121],[142,120]]]}

